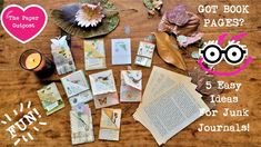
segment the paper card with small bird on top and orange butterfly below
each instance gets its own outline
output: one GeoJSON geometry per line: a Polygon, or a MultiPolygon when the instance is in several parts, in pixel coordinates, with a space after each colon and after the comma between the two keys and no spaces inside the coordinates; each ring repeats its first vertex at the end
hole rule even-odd
{"type": "Polygon", "coordinates": [[[119,104],[112,70],[93,74],[89,77],[97,109],[119,104]]]}

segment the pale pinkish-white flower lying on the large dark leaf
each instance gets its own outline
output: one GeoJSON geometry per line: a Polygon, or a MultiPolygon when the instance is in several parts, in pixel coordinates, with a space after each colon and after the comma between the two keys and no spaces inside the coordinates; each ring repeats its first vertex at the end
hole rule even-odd
{"type": "Polygon", "coordinates": [[[76,21],[80,27],[97,27],[98,23],[100,23],[104,17],[106,16],[102,12],[102,7],[100,6],[100,3],[84,3],[81,6],[81,9],[77,12],[76,21]]]}

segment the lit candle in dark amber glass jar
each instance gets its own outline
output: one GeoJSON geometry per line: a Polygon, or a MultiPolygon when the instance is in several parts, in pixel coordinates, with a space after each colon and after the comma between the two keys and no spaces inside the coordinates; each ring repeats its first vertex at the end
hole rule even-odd
{"type": "Polygon", "coordinates": [[[29,49],[20,56],[20,66],[33,71],[38,78],[48,78],[54,72],[54,63],[36,49],[29,49]]]}

